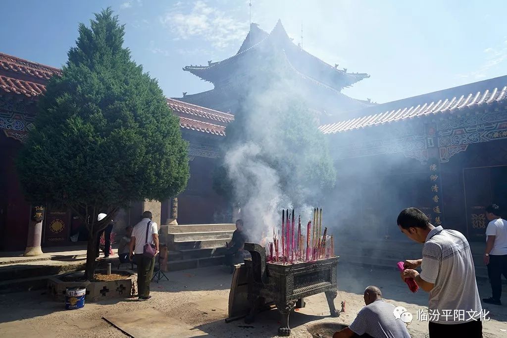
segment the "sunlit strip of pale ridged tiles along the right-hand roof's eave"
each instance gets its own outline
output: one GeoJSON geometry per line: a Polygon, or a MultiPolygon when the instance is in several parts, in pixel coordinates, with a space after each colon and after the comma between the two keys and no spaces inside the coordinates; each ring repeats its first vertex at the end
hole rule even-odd
{"type": "MultiPolygon", "coordinates": [[[[463,111],[466,109],[478,109],[482,107],[487,107],[494,103],[505,103],[507,102],[507,76],[491,79],[492,82],[498,83],[495,80],[504,80],[502,87],[494,87],[491,89],[483,89],[477,92],[466,93],[462,95],[455,95],[453,97],[448,97],[445,99],[440,99],[438,101],[431,102],[423,102],[419,104],[414,104],[410,107],[397,107],[392,108],[395,102],[389,102],[391,109],[385,111],[380,110],[383,108],[383,104],[379,106],[372,107],[373,109],[380,110],[376,114],[361,116],[352,118],[346,121],[340,121],[337,123],[331,123],[322,125],[319,127],[320,131],[324,134],[334,134],[345,132],[353,129],[361,129],[366,127],[372,127],[377,125],[382,125],[391,122],[404,121],[414,118],[420,118],[424,116],[431,116],[437,114],[447,114],[447,113],[455,113],[459,111],[463,111]],[[504,78],[504,79],[502,79],[504,78]]],[[[486,80],[485,82],[487,82],[486,80]]],[[[465,85],[461,87],[472,87],[476,84],[465,85]]],[[[459,88],[459,87],[456,87],[459,88]]],[[[451,91],[454,88],[451,88],[446,91],[451,91]]],[[[444,91],[445,92],[445,91],[444,91]]],[[[435,95],[435,93],[430,93],[430,95],[435,95]]],[[[421,95],[420,97],[424,97],[421,95]]],[[[410,99],[407,99],[410,100],[410,99]]],[[[405,100],[401,100],[403,102],[405,100]]],[[[369,108],[371,110],[372,108],[369,108]]]]}

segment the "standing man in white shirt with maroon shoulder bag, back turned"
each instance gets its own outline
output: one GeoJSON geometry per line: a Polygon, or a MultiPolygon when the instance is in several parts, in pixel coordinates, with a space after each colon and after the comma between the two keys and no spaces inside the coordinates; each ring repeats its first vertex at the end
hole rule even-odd
{"type": "Polygon", "coordinates": [[[137,294],[139,301],[147,301],[150,295],[150,283],[155,267],[155,256],[148,258],[143,256],[144,244],[152,243],[155,245],[155,256],[159,252],[158,228],[157,223],[152,221],[152,213],[144,211],[142,219],[135,224],[130,237],[130,259],[134,259],[137,265],[137,294]]]}

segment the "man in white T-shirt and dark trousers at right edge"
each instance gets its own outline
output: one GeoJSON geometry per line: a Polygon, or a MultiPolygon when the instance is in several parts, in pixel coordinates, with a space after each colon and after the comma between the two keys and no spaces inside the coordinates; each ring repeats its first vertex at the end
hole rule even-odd
{"type": "Polygon", "coordinates": [[[507,279],[507,221],[500,217],[498,204],[486,208],[486,218],[490,221],[486,228],[486,250],[484,251],[484,264],[488,266],[489,282],[491,283],[492,297],[483,298],[488,304],[502,305],[502,274],[507,279]]]}

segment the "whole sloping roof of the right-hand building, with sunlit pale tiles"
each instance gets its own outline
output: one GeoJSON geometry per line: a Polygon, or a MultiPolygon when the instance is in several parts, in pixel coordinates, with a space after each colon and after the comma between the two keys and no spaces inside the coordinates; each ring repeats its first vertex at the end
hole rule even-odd
{"type": "Polygon", "coordinates": [[[484,110],[493,104],[505,103],[507,76],[361,109],[356,112],[356,118],[322,125],[319,129],[324,134],[334,134],[414,118],[484,110]]]}

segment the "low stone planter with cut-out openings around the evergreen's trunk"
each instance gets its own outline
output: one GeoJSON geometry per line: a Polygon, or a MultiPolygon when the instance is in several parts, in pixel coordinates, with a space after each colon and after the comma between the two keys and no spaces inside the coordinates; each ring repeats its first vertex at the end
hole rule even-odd
{"type": "MultiPolygon", "coordinates": [[[[96,270],[105,273],[105,270],[96,270]]],[[[65,290],[69,287],[86,288],[86,301],[96,302],[106,298],[130,298],[137,294],[137,274],[128,270],[113,270],[111,273],[125,275],[125,279],[100,282],[66,282],[60,278],[76,273],[54,276],[48,280],[48,293],[56,301],[65,300],[65,290]]]]}

